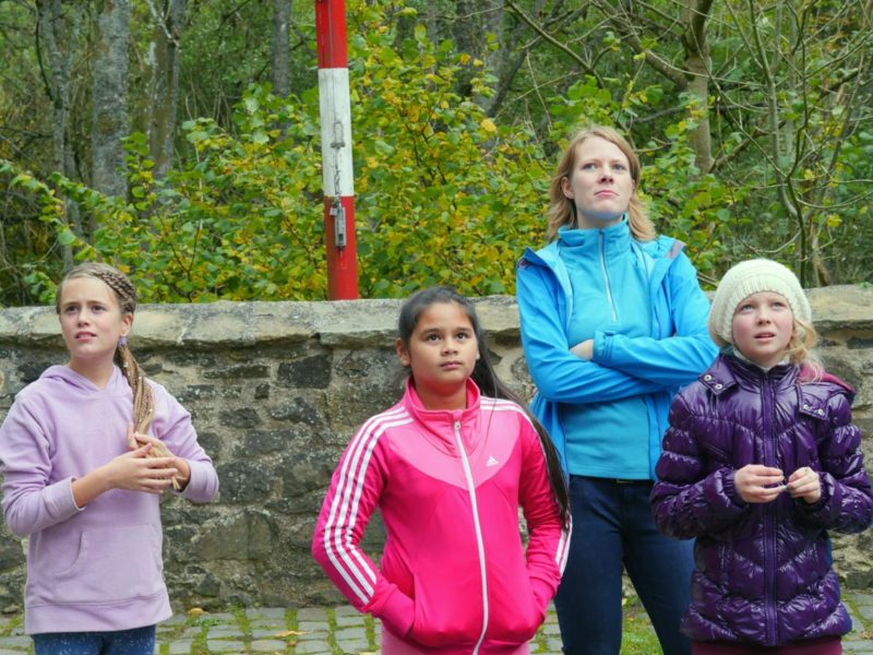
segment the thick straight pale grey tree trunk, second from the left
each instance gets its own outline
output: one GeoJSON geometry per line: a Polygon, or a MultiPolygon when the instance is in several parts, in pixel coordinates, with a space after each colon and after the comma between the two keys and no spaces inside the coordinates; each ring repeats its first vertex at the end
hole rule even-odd
{"type": "MultiPolygon", "coordinates": [[[[128,135],[128,0],[104,0],[97,16],[94,60],[92,184],[108,195],[127,195],[123,139],[128,135]]],[[[96,225],[91,226],[92,229],[96,225]]]]}

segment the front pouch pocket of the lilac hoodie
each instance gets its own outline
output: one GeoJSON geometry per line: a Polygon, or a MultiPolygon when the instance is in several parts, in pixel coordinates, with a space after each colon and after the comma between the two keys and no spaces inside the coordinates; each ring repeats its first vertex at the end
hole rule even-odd
{"type": "Polygon", "coordinates": [[[152,525],[89,528],[73,562],[53,577],[56,603],[112,603],[164,591],[162,536],[152,525]]]}

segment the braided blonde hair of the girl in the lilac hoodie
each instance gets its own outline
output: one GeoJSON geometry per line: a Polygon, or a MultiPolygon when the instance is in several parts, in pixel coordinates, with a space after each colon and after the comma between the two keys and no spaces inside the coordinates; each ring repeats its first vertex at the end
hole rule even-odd
{"type": "MultiPolygon", "coordinates": [[[[55,297],[55,311],[61,312],[61,294],[63,285],[70,279],[81,277],[92,277],[99,279],[115,294],[122,314],[133,314],[136,310],[136,290],[130,278],[121,271],[109,264],[100,262],[84,262],[70,269],[58,285],[58,293],[55,297]]],[[[152,396],[152,388],[145,381],[143,371],[136,359],[128,348],[127,341],[120,340],[116,348],[115,362],[121,369],[133,391],[133,426],[136,432],[145,434],[152,424],[152,416],[155,410],[155,400],[152,396]]]]}

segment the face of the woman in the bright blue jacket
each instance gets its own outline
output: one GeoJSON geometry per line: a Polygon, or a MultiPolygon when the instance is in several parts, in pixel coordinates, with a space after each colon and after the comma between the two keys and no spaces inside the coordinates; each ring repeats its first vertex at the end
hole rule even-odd
{"type": "Polygon", "coordinates": [[[621,148],[600,136],[588,136],[576,146],[570,176],[561,181],[564,195],[576,204],[579,228],[617,223],[631,204],[635,182],[621,148]]]}

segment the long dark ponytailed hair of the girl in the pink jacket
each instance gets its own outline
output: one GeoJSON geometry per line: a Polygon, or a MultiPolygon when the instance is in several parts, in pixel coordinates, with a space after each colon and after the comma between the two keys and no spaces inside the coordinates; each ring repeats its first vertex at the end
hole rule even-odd
{"type": "Polygon", "coordinates": [[[505,398],[516,403],[522,407],[534,425],[534,428],[537,430],[540,444],[542,445],[542,452],[546,454],[546,465],[549,469],[549,484],[552,488],[552,496],[554,497],[554,502],[558,503],[561,521],[564,525],[567,525],[570,517],[570,496],[566,490],[564,475],[561,472],[558,452],[554,450],[554,444],[549,438],[546,428],[530,414],[527,404],[498,378],[497,371],[494,371],[494,367],[491,365],[491,358],[488,355],[488,342],[486,341],[482,325],[479,322],[479,317],[476,315],[476,309],[473,303],[452,287],[434,286],[416,291],[409,296],[400,308],[400,318],[397,321],[397,334],[400,341],[407,348],[409,347],[409,340],[418,324],[418,319],[424,310],[435,302],[455,302],[467,314],[470,325],[473,326],[473,332],[476,335],[476,342],[479,345],[479,359],[476,360],[476,366],[473,369],[470,378],[476,382],[482,395],[493,398],[505,398]]]}

